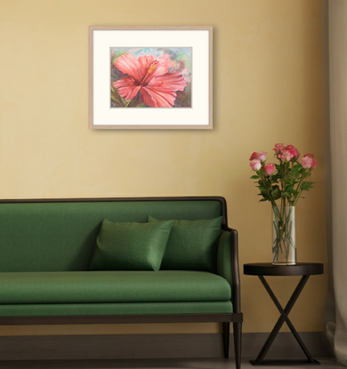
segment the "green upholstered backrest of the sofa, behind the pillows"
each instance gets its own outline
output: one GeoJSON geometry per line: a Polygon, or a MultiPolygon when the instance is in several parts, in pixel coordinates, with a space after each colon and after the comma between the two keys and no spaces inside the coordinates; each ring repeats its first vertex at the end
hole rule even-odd
{"type": "Polygon", "coordinates": [[[208,220],[222,197],[0,202],[0,272],[88,270],[101,221],[208,220]]]}

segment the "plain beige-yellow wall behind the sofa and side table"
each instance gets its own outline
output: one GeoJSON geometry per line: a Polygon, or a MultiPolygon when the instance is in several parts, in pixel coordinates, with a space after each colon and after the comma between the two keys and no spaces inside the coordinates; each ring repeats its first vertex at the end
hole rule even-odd
{"type": "MultiPolygon", "coordinates": [[[[314,153],[316,188],[297,206],[298,261],[326,262],[321,2],[0,0],[0,197],[217,195],[239,232],[244,332],[278,312],[246,262],[270,261],[270,205],[248,166],[275,143],[314,153]],[[88,26],[214,26],[213,131],[88,129],[88,26]]],[[[286,302],[298,279],[270,278],[286,302]]],[[[327,276],[291,314],[322,331],[327,276]]],[[[0,327],[6,334],[219,332],[209,325],[0,327]]]]}

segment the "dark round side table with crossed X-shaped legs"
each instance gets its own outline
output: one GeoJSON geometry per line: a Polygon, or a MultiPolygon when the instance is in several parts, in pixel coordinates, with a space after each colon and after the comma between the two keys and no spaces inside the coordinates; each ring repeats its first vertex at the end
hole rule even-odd
{"type": "Polygon", "coordinates": [[[253,365],[319,365],[320,363],[311,357],[311,354],[306,346],[303,344],[302,339],[296,332],[294,325],[289,320],[288,315],[293,308],[295,301],[299,297],[299,294],[303,291],[303,287],[312,275],[323,274],[323,264],[320,263],[308,263],[299,262],[296,265],[272,265],[270,262],[256,263],[256,264],[244,264],[244,274],[248,276],[258,276],[262,281],[262,285],[266,291],[270,294],[270,298],[275,303],[281,316],[278,318],[276,325],[273,327],[272,332],[268,340],[262,347],[258,357],[255,360],[250,360],[253,365]],[[295,288],[295,292],[286,304],[286,308],[283,309],[279,304],[275,294],[270,289],[270,286],[266,282],[264,276],[302,276],[299,284],[295,288]],[[275,340],[281,326],[286,322],[289,329],[295,336],[300,347],[303,349],[307,360],[295,360],[295,359],[283,359],[283,360],[264,360],[265,355],[270,349],[272,342],[275,340]]]}

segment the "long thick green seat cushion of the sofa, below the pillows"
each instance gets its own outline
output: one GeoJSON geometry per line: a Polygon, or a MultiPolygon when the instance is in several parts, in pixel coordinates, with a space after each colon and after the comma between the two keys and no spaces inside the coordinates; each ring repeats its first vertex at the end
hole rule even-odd
{"type": "Polygon", "coordinates": [[[229,301],[230,285],[190,270],[0,273],[0,303],[229,301]]]}

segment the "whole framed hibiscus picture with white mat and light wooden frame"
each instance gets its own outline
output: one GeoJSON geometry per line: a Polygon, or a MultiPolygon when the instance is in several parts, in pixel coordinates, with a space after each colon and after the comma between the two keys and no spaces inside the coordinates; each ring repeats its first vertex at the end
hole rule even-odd
{"type": "Polygon", "coordinates": [[[89,27],[89,128],[212,129],[212,32],[89,27]]]}

